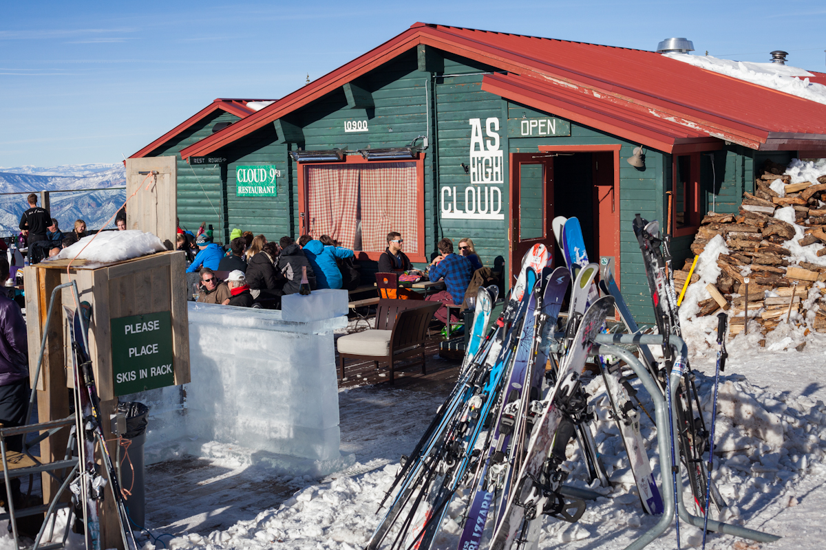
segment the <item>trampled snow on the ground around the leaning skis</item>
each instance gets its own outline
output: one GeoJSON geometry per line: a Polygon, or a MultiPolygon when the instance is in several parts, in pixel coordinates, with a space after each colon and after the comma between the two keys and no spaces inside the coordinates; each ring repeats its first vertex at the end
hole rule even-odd
{"type": "MultiPolygon", "coordinates": [[[[743,341],[737,346],[729,344],[729,353],[721,380],[715,437],[720,455],[714,480],[729,502],[721,519],[783,537],[762,548],[821,548],[826,537],[826,340],[812,339],[802,353],[793,349],[767,352],[743,341]]],[[[692,367],[699,373],[708,419],[714,356],[705,353],[692,360],[692,367]]],[[[634,385],[639,388],[638,382],[634,385]]],[[[615,437],[617,430],[607,416],[601,379],[591,382],[588,390],[600,417],[596,440],[614,487],[591,486],[605,496],[589,502],[577,524],[546,519],[539,548],[555,548],[561,543],[566,543],[566,548],[624,548],[657,520],[644,515],[640,508],[622,444],[615,437]]],[[[380,387],[354,388],[339,395],[342,450],[356,454],[354,467],[317,482],[282,477],[284,484],[301,488],[281,505],[240,519],[229,529],[211,533],[193,529],[172,540],[164,538],[167,546],[363,548],[380,519],[374,512],[392,483],[399,456],[410,452],[444,397],[380,387]]],[[[644,390],[639,395],[652,410],[644,390]]],[[[648,440],[649,457],[658,476],[656,431],[643,416],[643,436],[648,440]]],[[[572,458],[567,463],[572,470],[568,483],[586,487],[579,452],[573,444],[568,451],[572,458]]],[[[686,503],[690,501],[687,493],[686,488],[686,503]]],[[[455,548],[460,502],[451,508],[438,548],[455,548]]],[[[148,506],[151,509],[152,502],[148,506]]],[[[185,501],[177,506],[182,517],[195,511],[185,501]]],[[[207,512],[198,517],[206,519],[209,515],[207,512]]],[[[683,546],[699,546],[700,529],[681,523],[681,534],[683,546]]],[[[674,548],[675,543],[672,526],[649,548],[674,548]]],[[[748,541],[718,534],[710,534],[708,546],[758,548],[748,541]],[[733,546],[735,543],[737,546],[733,546]]],[[[151,548],[154,545],[145,543],[145,550],[151,548]]]]}

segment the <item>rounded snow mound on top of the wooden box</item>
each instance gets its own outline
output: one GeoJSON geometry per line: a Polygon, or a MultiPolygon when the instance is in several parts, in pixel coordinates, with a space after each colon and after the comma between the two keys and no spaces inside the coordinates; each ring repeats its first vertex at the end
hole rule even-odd
{"type": "Polygon", "coordinates": [[[79,254],[78,260],[111,263],[165,250],[164,243],[152,233],[144,233],[137,229],[102,231],[83,237],[71,247],[64,248],[55,258],[71,260],[79,254]]]}

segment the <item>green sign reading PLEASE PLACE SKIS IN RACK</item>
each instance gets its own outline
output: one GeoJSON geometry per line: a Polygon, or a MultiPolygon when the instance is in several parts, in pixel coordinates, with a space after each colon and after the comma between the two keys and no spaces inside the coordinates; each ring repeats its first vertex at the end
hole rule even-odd
{"type": "Polygon", "coordinates": [[[118,317],[111,325],[115,395],[174,385],[169,312],[118,317]]]}

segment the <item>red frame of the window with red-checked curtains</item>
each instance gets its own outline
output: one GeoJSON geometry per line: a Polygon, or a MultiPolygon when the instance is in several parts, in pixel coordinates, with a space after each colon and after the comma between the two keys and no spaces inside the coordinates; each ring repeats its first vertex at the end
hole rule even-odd
{"type": "MultiPolygon", "coordinates": [[[[418,158],[393,161],[368,161],[361,155],[348,155],[344,157],[344,162],[298,162],[298,233],[303,235],[307,232],[307,223],[310,210],[310,193],[307,190],[306,167],[323,166],[326,164],[384,164],[387,162],[415,162],[416,168],[416,209],[417,224],[419,230],[418,252],[407,254],[411,262],[427,262],[427,252],[425,251],[425,153],[419,153],[418,158]]],[[[357,260],[377,261],[384,251],[355,251],[357,260]]]]}

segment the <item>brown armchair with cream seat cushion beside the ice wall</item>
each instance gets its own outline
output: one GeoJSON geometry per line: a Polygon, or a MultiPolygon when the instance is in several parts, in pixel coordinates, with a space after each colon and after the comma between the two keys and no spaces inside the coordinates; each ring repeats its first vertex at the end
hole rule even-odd
{"type": "Polygon", "coordinates": [[[388,361],[390,383],[393,383],[394,362],[421,355],[421,373],[427,374],[427,327],[440,305],[439,302],[379,299],[374,328],[339,338],[339,379],[344,378],[345,358],[373,360],[376,368],[380,360],[388,361]]]}

